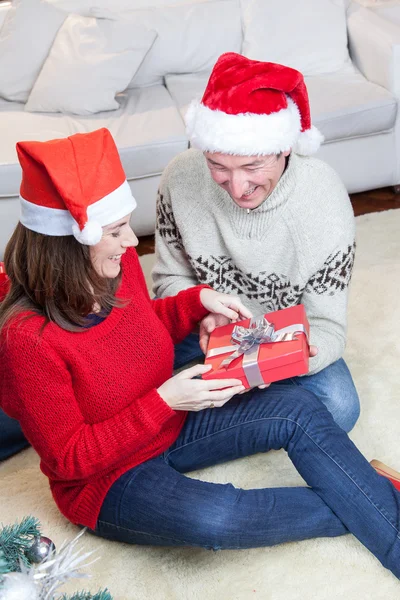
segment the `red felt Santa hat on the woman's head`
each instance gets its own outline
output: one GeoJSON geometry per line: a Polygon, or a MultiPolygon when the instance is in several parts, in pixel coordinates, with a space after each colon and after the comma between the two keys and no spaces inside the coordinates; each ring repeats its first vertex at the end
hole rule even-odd
{"type": "Polygon", "coordinates": [[[94,246],[102,227],[136,208],[108,129],[48,142],[18,142],[21,217],[45,235],[74,235],[94,246]]]}

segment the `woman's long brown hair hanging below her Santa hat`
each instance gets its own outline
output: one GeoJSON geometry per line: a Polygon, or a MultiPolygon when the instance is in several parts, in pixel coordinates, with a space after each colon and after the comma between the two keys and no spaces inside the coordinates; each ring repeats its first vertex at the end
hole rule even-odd
{"type": "Polygon", "coordinates": [[[67,331],[81,331],[94,306],[109,311],[121,274],[104,279],[95,271],[88,246],[72,235],[49,236],[18,223],[4,254],[10,289],[0,303],[0,332],[18,314],[32,311],[67,331]]]}

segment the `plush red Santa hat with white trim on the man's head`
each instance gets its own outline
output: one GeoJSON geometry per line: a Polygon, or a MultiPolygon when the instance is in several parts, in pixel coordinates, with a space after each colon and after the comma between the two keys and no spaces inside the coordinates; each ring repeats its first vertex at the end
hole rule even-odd
{"type": "Polygon", "coordinates": [[[186,114],[193,146],[240,156],[316,152],[303,75],[283,65],[228,52],[217,60],[201,102],[186,114]]]}

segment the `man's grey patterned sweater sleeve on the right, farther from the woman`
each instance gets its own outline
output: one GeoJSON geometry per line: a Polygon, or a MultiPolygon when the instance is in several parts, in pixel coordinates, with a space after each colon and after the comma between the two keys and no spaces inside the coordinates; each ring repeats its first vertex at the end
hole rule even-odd
{"type": "Polygon", "coordinates": [[[291,208],[291,231],[304,282],[300,302],[310,322],[308,375],[342,355],[346,345],[349,285],[355,255],[353,208],[337,173],[318,159],[302,159],[299,194],[291,208]]]}

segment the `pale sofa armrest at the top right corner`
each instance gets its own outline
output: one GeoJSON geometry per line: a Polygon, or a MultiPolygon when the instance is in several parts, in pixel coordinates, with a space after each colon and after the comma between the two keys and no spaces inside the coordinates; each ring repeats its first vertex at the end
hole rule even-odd
{"type": "Polygon", "coordinates": [[[400,98],[400,26],[360,8],[347,20],[350,56],[371,82],[400,98]]]}

